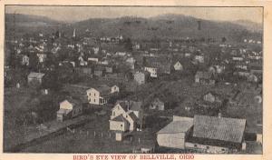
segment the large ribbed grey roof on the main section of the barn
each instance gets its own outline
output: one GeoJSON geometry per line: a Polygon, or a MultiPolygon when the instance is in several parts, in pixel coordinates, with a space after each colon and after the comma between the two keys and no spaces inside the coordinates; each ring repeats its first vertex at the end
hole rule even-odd
{"type": "Polygon", "coordinates": [[[246,119],[195,115],[193,124],[193,137],[241,143],[246,119]]]}

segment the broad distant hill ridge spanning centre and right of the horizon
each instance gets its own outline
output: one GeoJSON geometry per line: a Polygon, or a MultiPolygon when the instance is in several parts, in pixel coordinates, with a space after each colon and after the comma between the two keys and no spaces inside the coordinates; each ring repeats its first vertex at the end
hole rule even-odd
{"type": "MultiPolygon", "coordinates": [[[[92,35],[124,35],[132,39],[212,37],[221,40],[240,41],[251,36],[261,39],[261,32],[253,32],[244,25],[232,22],[215,22],[185,15],[159,15],[151,18],[126,16],[113,19],[89,19],[74,23],[78,30],[89,29],[92,35]],[[198,28],[198,21],[201,29],[198,28]]],[[[260,31],[262,28],[258,28],[260,31]]]]}

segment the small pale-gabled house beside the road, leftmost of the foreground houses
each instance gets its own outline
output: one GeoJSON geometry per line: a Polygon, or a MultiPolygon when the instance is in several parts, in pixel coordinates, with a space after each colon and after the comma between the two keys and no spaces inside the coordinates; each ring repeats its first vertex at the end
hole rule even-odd
{"type": "Polygon", "coordinates": [[[57,111],[57,121],[63,122],[66,119],[82,114],[83,105],[75,99],[68,98],[60,103],[60,109],[57,111]]]}

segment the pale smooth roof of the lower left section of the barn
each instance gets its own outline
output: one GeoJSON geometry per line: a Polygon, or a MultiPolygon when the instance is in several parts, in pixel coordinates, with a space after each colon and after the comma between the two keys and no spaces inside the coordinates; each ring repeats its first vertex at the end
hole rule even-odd
{"type": "Polygon", "coordinates": [[[193,125],[193,119],[173,121],[169,125],[166,125],[157,134],[175,134],[175,133],[184,133],[189,130],[193,125]]]}

